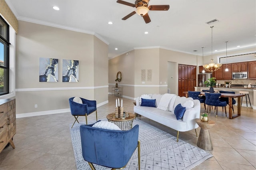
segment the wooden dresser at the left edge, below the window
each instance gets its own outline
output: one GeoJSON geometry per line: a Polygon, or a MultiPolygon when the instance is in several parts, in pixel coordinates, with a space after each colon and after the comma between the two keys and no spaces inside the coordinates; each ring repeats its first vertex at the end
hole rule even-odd
{"type": "Polygon", "coordinates": [[[0,99],[0,152],[10,143],[15,148],[12,138],[16,133],[15,98],[0,99]]]}

